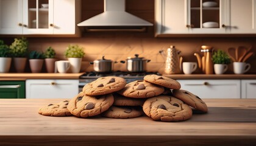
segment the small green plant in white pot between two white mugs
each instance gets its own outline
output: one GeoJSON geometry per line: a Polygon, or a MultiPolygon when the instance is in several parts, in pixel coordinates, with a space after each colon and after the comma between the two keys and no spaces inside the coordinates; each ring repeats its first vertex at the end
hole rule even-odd
{"type": "Polygon", "coordinates": [[[215,74],[224,74],[227,71],[227,64],[230,63],[229,55],[224,50],[218,49],[213,52],[213,63],[215,74]]]}

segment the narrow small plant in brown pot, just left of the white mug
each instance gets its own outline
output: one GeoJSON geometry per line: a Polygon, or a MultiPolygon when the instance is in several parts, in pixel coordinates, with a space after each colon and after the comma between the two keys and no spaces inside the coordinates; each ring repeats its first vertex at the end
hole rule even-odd
{"type": "Polygon", "coordinates": [[[45,57],[45,66],[46,66],[46,71],[48,73],[52,73],[54,72],[54,67],[55,67],[55,50],[49,46],[48,48],[46,48],[45,52],[44,52],[44,57],[45,57]]]}

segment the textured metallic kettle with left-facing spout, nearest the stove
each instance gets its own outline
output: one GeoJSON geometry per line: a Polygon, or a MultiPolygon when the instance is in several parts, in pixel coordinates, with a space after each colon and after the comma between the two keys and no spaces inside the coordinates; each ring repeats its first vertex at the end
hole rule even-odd
{"type": "Polygon", "coordinates": [[[159,51],[163,57],[166,58],[165,61],[165,74],[180,74],[182,71],[182,60],[183,57],[180,56],[180,50],[176,49],[175,46],[170,46],[167,52],[163,50],[159,51]]]}

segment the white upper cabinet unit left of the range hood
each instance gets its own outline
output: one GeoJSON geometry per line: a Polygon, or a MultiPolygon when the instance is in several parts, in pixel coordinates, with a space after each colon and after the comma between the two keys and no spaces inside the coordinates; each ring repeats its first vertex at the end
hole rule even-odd
{"type": "Polygon", "coordinates": [[[0,34],[74,35],[79,13],[79,0],[0,0],[0,34]]]}

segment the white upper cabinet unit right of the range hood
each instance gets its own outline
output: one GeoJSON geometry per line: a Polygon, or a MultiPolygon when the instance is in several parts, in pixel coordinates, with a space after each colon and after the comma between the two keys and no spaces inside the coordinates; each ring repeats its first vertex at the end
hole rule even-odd
{"type": "Polygon", "coordinates": [[[155,0],[156,36],[256,33],[256,0],[155,0]]]}

